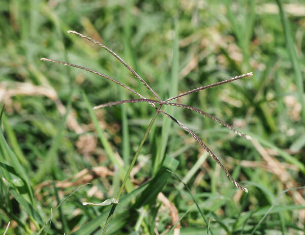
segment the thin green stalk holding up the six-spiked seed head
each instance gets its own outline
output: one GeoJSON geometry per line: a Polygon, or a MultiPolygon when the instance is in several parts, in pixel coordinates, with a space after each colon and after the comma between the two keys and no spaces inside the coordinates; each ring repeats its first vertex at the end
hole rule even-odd
{"type": "MultiPolygon", "coordinates": [[[[146,138],[147,138],[147,136],[148,136],[148,133],[149,133],[151,127],[153,126],[153,124],[154,124],[154,122],[155,122],[155,120],[156,120],[156,118],[157,118],[157,115],[158,115],[158,113],[159,113],[161,107],[162,107],[162,104],[160,104],[159,108],[156,110],[155,115],[153,116],[153,119],[151,119],[151,121],[150,121],[150,123],[149,123],[149,125],[148,125],[148,127],[147,127],[147,129],[146,129],[146,132],[145,132],[145,134],[144,134],[144,136],[143,136],[143,138],[142,138],[142,140],[141,140],[141,143],[140,143],[140,145],[139,145],[139,147],[138,147],[138,150],[137,150],[137,152],[136,152],[136,154],[135,154],[135,156],[134,156],[134,158],[133,158],[133,160],[132,160],[132,162],[131,162],[131,164],[130,164],[130,166],[129,166],[129,168],[128,168],[128,171],[127,171],[127,173],[126,173],[126,175],[125,175],[125,178],[124,178],[124,180],[123,180],[123,183],[122,183],[122,185],[121,185],[121,187],[120,187],[120,189],[119,189],[119,191],[118,191],[118,193],[117,193],[117,196],[116,196],[116,198],[115,198],[117,201],[119,200],[120,195],[121,195],[121,193],[123,192],[123,189],[124,189],[124,187],[125,187],[125,184],[126,184],[126,182],[127,182],[127,179],[129,178],[130,172],[131,172],[131,170],[132,170],[132,168],[133,168],[133,166],[134,166],[134,164],[135,164],[135,162],[136,162],[136,160],[137,160],[137,158],[138,158],[138,156],[139,156],[139,154],[140,154],[140,151],[141,151],[141,149],[142,149],[142,146],[143,146],[143,144],[144,144],[144,142],[145,142],[145,140],[146,140],[146,138]]],[[[112,215],[113,215],[114,210],[115,210],[115,208],[116,208],[116,205],[117,205],[117,204],[112,204],[111,210],[110,210],[110,212],[109,212],[109,215],[108,215],[108,217],[107,217],[106,223],[105,223],[105,225],[104,225],[104,227],[103,227],[103,230],[102,230],[102,233],[101,233],[102,235],[105,235],[105,234],[106,234],[107,227],[108,227],[108,225],[109,225],[109,223],[110,223],[110,221],[111,221],[111,218],[112,218],[112,215]]]]}

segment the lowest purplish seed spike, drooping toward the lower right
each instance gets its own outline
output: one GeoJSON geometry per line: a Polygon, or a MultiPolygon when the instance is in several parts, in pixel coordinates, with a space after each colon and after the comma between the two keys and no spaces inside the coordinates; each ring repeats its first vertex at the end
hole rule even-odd
{"type": "Polygon", "coordinates": [[[232,181],[232,183],[235,185],[236,188],[241,189],[242,191],[248,193],[248,189],[245,187],[242,187],[240,184],[238,184],[234,178],[232,177],[232,175],[229,173],[229,171],[226,169],[226,167],[220,162],[220,160],[218,159],[218,157],[212,153],[210,151],[210,149],[202,142],[202,140],[195,135],[189,128],[187,128],[184,124],[180,123],[178,120],[176,120],[173,116],[167,114],[166,112],[160,110],[159,112],[163,113],[164,115],[166,115],[167,117],[169,117],[172,121],[174,121],[176,124],[178,124],[182,129],[184,129],[186,132],[188,132],[189,134],[191,134],[195,140],[197,140],[197,142],[199,142],[199,144],[209,153],[209,155],[220,165],[220,167],[225,171],[225,173],[227,174],[227,176],[229,177],[229,179],[232,181]]]}

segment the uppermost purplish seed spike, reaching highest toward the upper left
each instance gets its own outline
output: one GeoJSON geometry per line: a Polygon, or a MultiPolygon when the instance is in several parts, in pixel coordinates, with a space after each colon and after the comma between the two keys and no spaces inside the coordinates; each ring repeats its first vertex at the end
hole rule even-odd
{"type": "Polygon", "coordinates": [[[136,78],[138,78],[142,84],[151,92],[153,93],[153,95],[156,97],[157,100],[161,101],[160,97],[157,95],[157,93],[151,89],[151,87],[147,84],[147,82],[145,82],[143,80],[143,78],[140,77],[139,74],[136,73],[136,71],[134,71],[121,57],[119,57],[114,51],[112,51],[111,49],[109,49],[107,46],[105,46],[104,44],[92,39],[92,38],[89,38],[85,35],[82,35],[76,31],[72,31],[72,30],[69,30],[68,31],[68,34],[75,34],[75,35],[78,35],[79,37],[82,37],[82,38],[85,38],[87,40],[89,40],[90,42],[93,42],[97,45],[99,45],[100,47],[104,48],[105,50],[107,50],[110,54],[112,54],[115,58],[117,58],[117,60],[122,63],[136,78]]]}

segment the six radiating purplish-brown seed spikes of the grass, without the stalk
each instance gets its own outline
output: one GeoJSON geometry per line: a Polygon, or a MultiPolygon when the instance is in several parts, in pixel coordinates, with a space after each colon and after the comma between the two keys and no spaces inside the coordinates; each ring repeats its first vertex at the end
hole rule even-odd
{"type": "MultiPolygon", "coordinates": [[[[249,135],[246,135],[246,134],[243,134],[239,131],[237,131],[234,127],[228,125],[227,123],[221,121],[220,119],[218,119],[216,116],[213,116],[209,113],[206,113],[198,108],[195,108],[193,106],[189,106],[189,105],[185,105],[185,104],[178,104],[178,103],[170,103],[169,101],[171,100],[174,100],[174,99],[177,99],[179,97],[182,97],[182,96],[186,96],[186,95],[189,95],[189,94],[192,94],[192,93],[195,93],[195,92],[199,92],[199,91],[202,91],[202,90],[205,90],[205,89],[208,89],[210,87],[213,87],[213,86],[217,86],[217,85],[221,85],[221,84],[224,84],[224,83],[227,83],[227,82],[231,82],[231,81],[235,81],[235,80],[238,80],[240,78],[244,78],[244,77],[251,77],[253,75],[252,72],[250,73],[247,73],[247,74],[242,74],[240,76],[236,76],[236,77],[233,77],[233,78],[230,78],[230,79],[227,79],[227,80],[224,80],[224,81],[220,81],[220,82],[216,82],[216,83],[213,83],[213,84],[209,84],[209,85],[206,85],[206,86],[201,86],[201,87],[198,87],[196,89],[193,89],[193,90],[190,90],[188,92],[185,92],[185,93],[182,93],[180,95],[177,95],[177,96],[174,96],[174,97],[171,97],[171,98],[168,98],[167,100],[161,100],[160,97],[158,96],[158,94],[145,82],[145,80],[143,78],[140,77],[140,75],[138,75],[121,57],[119,57],[115,52],[113,52],[111,49],[109,49],[107,46],[105,46],[104,44],[92,39],[92,38],[89,38],[87,36],[84,36],[78,32],[75,32],[75,31],[68,31],[69,34],[75,34],[75,35],[78,35],[86,40],[89,40],[95,44],[97,44],[98,46],[104,48],[106,51],[108,51],[110,54],[112,54],[121,64],[123,64],[155,97],[155,99],[147,99],[145,98],[144,96],[142,96],[141,94],[139,94],[138,92],[134,91],[133,89],[131,89],[129,86],[107,76],[107,75],[104,75],[102,73],[99,73],[97,71],[94,71],[92,69],[88,69],[88,68],[85,68],[85,67],[82,67],[82,66],[79,66],[79,65],[74,65],[74,64],[70,64],[70,63],[66,63],[66,62],[60,62],[60,61],[55,61],[55,60],[51,60],[51,59],[48,59],[48,58],[41,58],[40,60],[41,61],[48,61],[48,62],[53,62],[53,63],[57,63],[57,64],[62,64],[62,65],[66,65],[66,66],[71,66],[71,67],[75,67],[75,68],[78,68],[78,69],[82,69],[82,70],[85,70],[85,71],[88,71],[90,73],[94,73],[94,74],[97,74],[103,78],[106,78],[112,82],[115,82],[116,84],[119,84],[120,86],[123,86],[125,89],[127,89],[128,91],[132,92],[133,94],[135,94],[136,96],[138,96],[140,99],[131,99],[131,100],[121,100],[121,101],[114,101],[114,102],[109,102],[109,103],[106,103],[106,104],[101,104],[101,105],[98,105],[98,106],[95,106],[94,109],[98,109],[98,108],[103,108],[103,107],[108,107],[108,106],[113,106],[113,105],[117,105],[117,104],[125,104],[125,103],[136,103],[136,102],[147,102],[148,104],[150,104],[153,108],[157,109],[157,114],[158,113],[162,113],[164,114],[165,116],[169,117],[169,119],[171,119],[173,122],[175,122],[177,125],[179,125],[182,129],[184,129],[186,132],[188,132],[189,134],[191,134],[193,136],[193,138],[206,150],[206,152],[208,152],[208,154],[217,162],[217,164],[220,165],[220,167],[225,171],[225,173],[227,174],[228,178],[232,181],[232,183],[234,184],[235,187],[241,189],[242,191],[244,192],[248,192],[248,189],[245,188],[245,187],[242,187],[239,183],[237,183],[233,177],[231,176],[231,174],[229,173],[229,171],[226,169],[226,167],[221,163],[221,161],[219,160],[219,158],[210,151],[210,149],[207,147],[207,145],[205,143],[202,142],[202,140],[197,136],[195,135],[188,127],[186,127],[184,124],[180,123],[177,119],[175,119],[175,117],[169,115],[168,113],[164,112],[163,110],[160,110],[161,106],[162,105],[170,105],[170,106],[175,106],[175,107],[180,107],[180,108],[186,108],[186,109],[190,109],[192,111],[195,111],[197,113],[200,113],[206,117],[208,117],[209,119],[212,119],[218,123],[220,123],[221,125],[223,125],[224,127],[230,129],[231,131],[233,131],[235,134],[239,135],[239,136],[243,136],[243,137],[246,137],[247,139],[251,139],[251,137],[249,135]],[[156,106],[156,104],[158,104],[158,108],[156,106]]],[[[118,200],[118,198],[116,198],[118,200]]]]}

